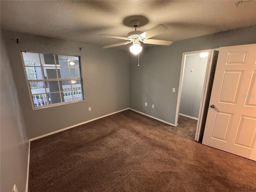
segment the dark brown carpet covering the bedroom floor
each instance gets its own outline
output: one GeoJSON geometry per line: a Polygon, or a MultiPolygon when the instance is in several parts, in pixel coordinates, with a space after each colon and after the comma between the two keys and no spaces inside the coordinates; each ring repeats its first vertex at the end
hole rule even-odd
{"type": "Polygon", "coordinates": [[[32,141],[28,191],[256,191],[256,162],[180,130],[126,110],[32,141]]]}

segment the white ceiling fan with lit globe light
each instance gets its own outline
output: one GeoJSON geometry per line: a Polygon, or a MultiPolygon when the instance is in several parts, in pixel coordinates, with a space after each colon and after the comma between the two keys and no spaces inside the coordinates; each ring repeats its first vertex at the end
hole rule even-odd
{"type": "Polygon", "coordinates": [[[127,37],[119,37],[119,36],[113,36],[113,35],[108,35],[108,34],[100,34],[101,36],[106,36],[109,38],[126,40],[125,42],[107,45],[107,46],[104,46],[103,48],[110,48],[110,47],[115,47],[115,46],[120,46],[120,45],[126,45],[126,44],[129,44],[132,42],[132,46],[130,46],[130,52],[132,52],[134,54],[138,54],[142,51],[142,46],[140,46],[140,42],[143,42],[144,44],[165,45],[165,46],[172,44],[172,41],[150,39],[151,37],[156,36],[156,35],[164,32],[165,30],[167,30],[166,26],[164,26],[162,24],[158,24],[158,26],[156,26],[148,31],[142,32],[142,31],[137,31],[137,27],[139,24],[140,24],[139,20],[132,21],[132,25],[135,27],[135,30],[129,32],[127,37]]]}

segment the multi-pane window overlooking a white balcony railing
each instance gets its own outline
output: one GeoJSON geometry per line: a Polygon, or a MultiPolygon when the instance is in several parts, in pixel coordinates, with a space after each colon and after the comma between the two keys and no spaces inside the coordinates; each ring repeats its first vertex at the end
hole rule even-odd
{"type": "Polygon", "coordinates": [[[22,51],[33,109],[84,100],[80,56],[22,51]]]}

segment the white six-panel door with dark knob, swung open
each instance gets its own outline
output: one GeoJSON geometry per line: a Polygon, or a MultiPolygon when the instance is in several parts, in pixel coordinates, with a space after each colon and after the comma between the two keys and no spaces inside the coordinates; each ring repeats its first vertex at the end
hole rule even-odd
{"type": "Polygon", "coordinates": [[[256,44],[220,48],[202,144],[256,161],[256,44]]]}

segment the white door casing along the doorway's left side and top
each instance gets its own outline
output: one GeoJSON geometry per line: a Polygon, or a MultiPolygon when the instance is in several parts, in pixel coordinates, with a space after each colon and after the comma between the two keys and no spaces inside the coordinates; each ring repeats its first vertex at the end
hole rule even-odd
{"type": "MultiPolygon", "coordinates": [[[[186,62],[186,55],[191,55],[191,54],[199,54],[202,52],[209,52],[212,50],[219,50],[219,48],[216,49],[207,49],[207,50],[200,50],[200,51],[192,51],[192,52],[184,52],[182,54],[182,62],[181,62],[181,69],[180,69],[180,84],[179,84],[179,89],[178,89],[178,98],[177,98],[177,106],[176,106],[176,116],[175,116],[175,126],[178,126],[178,117],[179,117],[179,111],[180,111],[180,99],[181,99],[181,93],[182,93],[182,84],[183,84],[183,75],[184,75],[184,67],[185,67],[185,62],[186,62]]],[[[210,55],[208,56],[210,58],[210,55]]],[[[209,59],[208,59],[209,60],[209,59]]],[[[207,62],[207,67],[206,70],[209,68],[210,62],[207,62]]],[[[206,82],[204,82],[205,84],[206,82]]],[[[205,86],[204,86],[205,87],[205,86]]],[[[205,88],[203,90],[205,92],[205,88]]],[[[197,130],[198,131],[198,130],[197,130]]]]}

